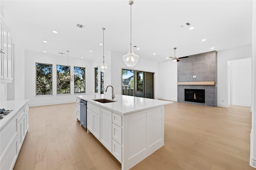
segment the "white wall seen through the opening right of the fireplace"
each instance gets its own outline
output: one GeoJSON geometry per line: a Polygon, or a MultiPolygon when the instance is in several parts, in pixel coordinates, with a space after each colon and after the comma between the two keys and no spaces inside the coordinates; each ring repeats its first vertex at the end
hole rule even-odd
{"type": "Polygon", "coordinates": [[[230,104],[252,106],[252,58],[229,61],[230,104]]]}

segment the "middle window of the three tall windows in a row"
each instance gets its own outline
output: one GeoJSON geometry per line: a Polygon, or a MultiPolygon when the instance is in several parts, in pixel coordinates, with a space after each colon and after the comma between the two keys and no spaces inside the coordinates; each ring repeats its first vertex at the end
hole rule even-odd
{"type": "Polygon", "coordinates": [[[70,81],[63,81],[63,75],[70,76],[70,66],[57,65],[57,94],[70,94],[70,81]]]}

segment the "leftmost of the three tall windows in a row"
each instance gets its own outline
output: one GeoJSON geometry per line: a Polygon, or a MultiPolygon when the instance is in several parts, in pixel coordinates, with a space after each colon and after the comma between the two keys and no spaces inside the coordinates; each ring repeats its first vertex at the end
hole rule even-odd
{"type": "Polygon", "coordinates": [[[36,63],[36,96],[52,94],[52,64],[36,63]]]}

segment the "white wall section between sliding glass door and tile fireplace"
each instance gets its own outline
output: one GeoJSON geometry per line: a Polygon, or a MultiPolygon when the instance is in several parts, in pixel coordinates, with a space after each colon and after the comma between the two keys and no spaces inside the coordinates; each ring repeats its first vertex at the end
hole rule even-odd
{"type": "Polygon", "coordinates": [[[178,100],[177,62],[166,61],[159,63],[159,98],[178,100]]]}

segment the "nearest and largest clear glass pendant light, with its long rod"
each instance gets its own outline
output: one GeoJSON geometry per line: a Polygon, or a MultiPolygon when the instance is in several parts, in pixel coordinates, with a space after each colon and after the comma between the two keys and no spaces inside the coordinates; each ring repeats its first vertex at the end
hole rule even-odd
{"type": "Polygon", "coordinates": [[[135,66],[139,61],[139,56],[134,54],[133,49],[132,49],[132,4],[133,4],[133,1],[130,0],[129,1],[129,5],[131,7],[131,10],[130,10],[130,35],[131,35],[131,37],[130,37],[130,46],[129,46],[128,53],[126,55],[123,55],[124,63],[128,67],[135,66]]]}

